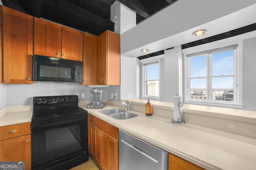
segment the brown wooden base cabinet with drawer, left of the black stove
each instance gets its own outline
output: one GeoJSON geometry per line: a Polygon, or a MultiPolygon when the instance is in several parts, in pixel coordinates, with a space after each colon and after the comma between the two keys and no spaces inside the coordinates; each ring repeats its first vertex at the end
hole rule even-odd
{"type": "Polygon", "coordinates": [[[30,123],[0,127],[0,162],[26,162],[31,169],[30,123]]]}

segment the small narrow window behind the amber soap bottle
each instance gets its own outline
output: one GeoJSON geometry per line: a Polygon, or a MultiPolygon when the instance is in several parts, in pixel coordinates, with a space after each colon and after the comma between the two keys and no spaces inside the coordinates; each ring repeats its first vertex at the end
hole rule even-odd
{"type": "Polygon", "coordinates": [[[142,98],[160,99],[160,59],[140,60],[142,67],[142,98]]]}

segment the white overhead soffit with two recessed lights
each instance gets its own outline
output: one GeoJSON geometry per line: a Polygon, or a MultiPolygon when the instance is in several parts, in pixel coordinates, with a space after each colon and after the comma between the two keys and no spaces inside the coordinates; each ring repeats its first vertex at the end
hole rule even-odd
{"type": "Polygon", "coordinates": [[[236,1],[236,6],[230,6],[232,3],[229,1],[234,3],[232,0],[211,1],[214,4],[202,0],[189,1],[189,3],[179,0],[121,34],[121,54],[139,57],[147,54],[140,52],[140,49],[150,49],[148,53],[154,53],[256,23],[255,0],[236,1]],[[198,4],[208,4],[203,4],[201,7],[189,4],[195,1],[198,4]],[[222,8],[218,2],[222,2],[220,3],[223,5],[222,8]],[[190,8],[177,10],[180,6],[184,6],[184,3],[190,8]],[[170,10],[176,12],[175,15],[170,13],[170,10]],[[193,37],[192,33],[198,29],[207,29],[208,33],[201,37],[193,37]]]}

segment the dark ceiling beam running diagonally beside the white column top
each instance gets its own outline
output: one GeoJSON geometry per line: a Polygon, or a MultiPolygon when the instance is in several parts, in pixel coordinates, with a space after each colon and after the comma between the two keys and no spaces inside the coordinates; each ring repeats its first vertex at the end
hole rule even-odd
{"type": "Polygon", "coordinates": [[[128,8],[130,8],[131,10],[134,10],[140,16],[144,18],[149,17],[148,12],[146,12],[143,5],[140,4],[140,1],[137,1],[137,0],[118,0],[118,1],[124,4],[125,6],[127,6],[128,8]]]}

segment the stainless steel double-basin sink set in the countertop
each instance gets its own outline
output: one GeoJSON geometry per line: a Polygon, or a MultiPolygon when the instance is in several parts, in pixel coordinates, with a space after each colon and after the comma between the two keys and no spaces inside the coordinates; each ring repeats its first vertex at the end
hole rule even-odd
{"type": "Polygon", "coordinates": [[[106,109],[99,111],[105,115],[113,117],[114,119],[130,119],[132,117],[136,117],[138,115],[126,112],[124,109],[114,108],[114,109],[106,109]]]}

